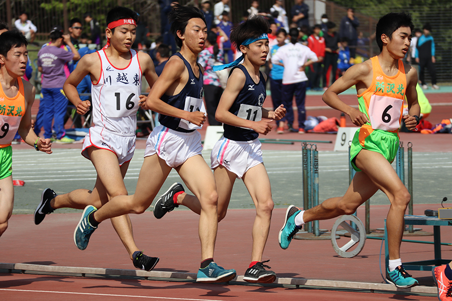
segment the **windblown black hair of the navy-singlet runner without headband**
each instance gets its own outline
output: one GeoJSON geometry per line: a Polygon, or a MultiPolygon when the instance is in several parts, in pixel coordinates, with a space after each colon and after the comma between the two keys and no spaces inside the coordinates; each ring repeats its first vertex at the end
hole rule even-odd
{"type": "Polygon", "coordinates": [[[181,34],[184,34],[188,21],[195,18],[199,18],[204,21],[204,24],[207,24],[204,14],[196,7],[184,7],[176,4],[173,10],[169,12],[168,22],[171,24],[171,33],[178,47],[182,47],[182,40],[177,36],[177,32],[180,31],[181,34]]]}

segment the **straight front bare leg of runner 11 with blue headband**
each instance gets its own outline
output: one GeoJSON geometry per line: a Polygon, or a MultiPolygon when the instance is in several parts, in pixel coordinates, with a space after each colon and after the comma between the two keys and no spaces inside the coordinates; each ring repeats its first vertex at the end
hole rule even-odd
{"type": "Polygon", "coordinates": [[[273,200],[270,179],[264,164],[249,169],[243,176],[243,182],[256,206],[256,218],[253,224],[253,250],[251,261],[262,261],[265,244],[270,231],[272,219],[273,200]]]}

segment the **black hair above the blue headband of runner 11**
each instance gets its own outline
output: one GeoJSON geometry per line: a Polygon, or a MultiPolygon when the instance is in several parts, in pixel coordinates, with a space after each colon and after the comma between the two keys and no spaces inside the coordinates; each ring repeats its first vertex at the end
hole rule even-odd
{"type": "Polygon", "coordinates": [[[240,51],[240,45],[248,39],[256,39],[263,34],[269,34],[270,24],[268,20],[261,15],[254,15],[244,21],[239,23],[231,30],[231,44],[240,51]]]}

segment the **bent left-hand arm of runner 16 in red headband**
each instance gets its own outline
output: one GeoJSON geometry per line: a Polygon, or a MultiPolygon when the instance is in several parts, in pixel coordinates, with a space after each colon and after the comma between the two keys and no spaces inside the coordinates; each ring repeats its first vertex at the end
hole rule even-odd
{"type": "MultiPolygon", "coordinates": [[[[77,85],[88,74],[91,74],[91,80],[93,80],[94,76],[92,75],[92,70],[95,67],[97,67],[98,75],[96,74],[94,76],[100,76],[100,59],[97,53],[84,55],[80,59],[75,70],[72,71],[63,85],[64,94],[66,95],[67,99],[69,99],[69,101],[72,102],[72,104],[77,108],[77,114],[85,114],[89,110],[89,106],[91,105],[91,102],[89,102],[89,100],[82,101],[80,99],[77,91],[77,85]]],[[[94,79],[93,81],[96,81],[96,79],[94,79]]]]}

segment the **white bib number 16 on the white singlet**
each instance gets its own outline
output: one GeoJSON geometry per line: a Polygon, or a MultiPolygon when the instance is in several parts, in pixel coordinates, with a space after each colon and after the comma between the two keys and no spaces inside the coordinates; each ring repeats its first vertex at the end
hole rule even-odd
{"type": "Polygon", "coordinates": [[[135,115],[138,111],[140,94],[135,87],[121,87],[105,93],[105,113],[108,117],[125,117],[135,115]]]}

